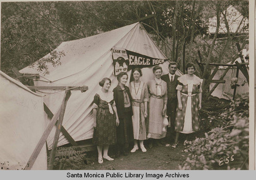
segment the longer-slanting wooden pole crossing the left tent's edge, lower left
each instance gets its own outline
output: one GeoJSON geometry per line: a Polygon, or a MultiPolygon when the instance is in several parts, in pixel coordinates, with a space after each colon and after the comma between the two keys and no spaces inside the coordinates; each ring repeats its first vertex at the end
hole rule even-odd
{"type": "Polygon", "coordinates": [[[32,168],[33,164],[35,163],[36,158],[39,155],[39,152],[42,149],[42,146],[44,146],[44,144],[46,143],[46,140],[47,140],[49,134],[51,133],[52,128],[53,128],[54,124],[56,123],[56,121],[59,117],[60,110],[61,110],[61,106],[60,106],[59,110],[57,111],[57,113],[54,114],[54,116],[52,117],[52,120],[49,123],[49,125],[47,126],[46,131],[44,132],[44,134],[42,134],[41,139],[37,143],[32,155],[31,155],[31,157],[30,157],[30,159],[29,159],[29,161],[28,161],[28,163],[27,163],[27,165],[24,169],[30,170],[32,168]]]}

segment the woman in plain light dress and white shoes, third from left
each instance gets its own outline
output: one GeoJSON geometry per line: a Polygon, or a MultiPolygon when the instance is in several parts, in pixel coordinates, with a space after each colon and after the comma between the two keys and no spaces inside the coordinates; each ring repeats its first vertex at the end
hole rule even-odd
{"type": "Polygon", "coordinates": [[[132,95],[132,106],[133,106],[133,136],[134,136],[134,147],[131,152],[135,152],[138,147],[138,141],[142,152],[146,152],[143,140],[146,139],[146,122],[147,117],[147,101],[148,91],[146,83],[140,81],[142,76],[141,69],[135,68],[133,71],[134,81],[130,83],[129,89],[132,95]]]}

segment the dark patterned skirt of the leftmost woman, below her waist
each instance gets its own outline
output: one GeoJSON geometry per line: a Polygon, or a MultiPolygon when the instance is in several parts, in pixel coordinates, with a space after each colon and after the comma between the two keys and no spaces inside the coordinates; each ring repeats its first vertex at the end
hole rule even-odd
{"type": "Polygon", "coordinates": [[[116,114],[109,109],[98,108],[96,128],[93,132],[93,143],[96,145],[111,145],[116,143],[116,114]]]}

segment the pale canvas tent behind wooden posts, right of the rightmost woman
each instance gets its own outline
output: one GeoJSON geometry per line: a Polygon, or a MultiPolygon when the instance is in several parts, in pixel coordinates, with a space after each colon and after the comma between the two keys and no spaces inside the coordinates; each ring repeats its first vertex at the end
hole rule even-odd
{"type": "MultiPolygon", "coordinates": [[[[243,49],[242,54],[244,57],[246,57],[246,55],[247,55],[246,49],[243,49]]],[[[239,63],[242,63],[240,58],[236,59],[236,61],[238,61],[239,63]]],[[[245,60],[245,62],[248,63],[248,60],[245,60]]],[[[230,64],[230,62],[227,64],[230,64]]],[[[226,68],[227,68],[226,66],[219,66],[219,69],[218,69],[217,73],[215,74],[214,78],[212,78],[212,80],[219,80],[221,75],[226,70],[226,68]]],[[[212,73],[212,71],[214,71],[214,69],[211,69],[211,73],[212,73]]],[[[211,95],[218,97],[218,98],[229,99],[228,97],[225,96],[225,94],[226,93],[233,94],[233,89],[231,89],[230,85],[231,85],[231,78],[236,77],[236,72],[237,72],[237,67],[231,67],[223,78],[223,80],[225,80],[226,82],[223,84],[219,84],[217,86],[217,88],[211,93],[211,95]]],[[[238,76],[238,84],[240,86],[237,87],[236,94],[242,94],[242,93],[249,92],[249,85],[246,82],[247,82],[247,80],[246,80],[244,74],[240,71],[239,76],[238,76]],[[244,83],[244,86],[242,86],[243,83],[244,83]]],[[[210,89],[212,87],[214,87],[214,85],[215,85],[214,83],[210,84],[210,89]]],[[[232,97],[230,97],[230,98],[232,98],[232,97]]]]}

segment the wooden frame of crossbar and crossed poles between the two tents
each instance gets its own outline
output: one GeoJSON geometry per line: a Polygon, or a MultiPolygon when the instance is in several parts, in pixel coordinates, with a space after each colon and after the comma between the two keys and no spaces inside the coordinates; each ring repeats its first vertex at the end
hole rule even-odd
{"type": "Polygon", "coordinates": [[[53,162],[55,159],[55,154],[56,154],[56,148],[58,145],[58,140],[59,140],[59,134],[60,132],[68,139],[68,141],[73,145],[77,146],[77,143],[75,140],[70,136],[70,134],[67,132],[67,130],[62,126],[62,121],[63,117],[65,114],[67,102],[71,96],[71,90],[80,90],[81,92],[86,92],[88,90],[88,86],[82,86],[82,87],[70,87],[70,86],[34,86],[34,79],[39,79],[39,74],[21,74],[18,72],[16,68],[12,69],[13,73],[17,77],[17,79],[22,82],[24,85],[26,85],[30,90],[36,91],[36,90],[65,90],[65,95],[63,97],[62,103],[60,107],[58,108],[58,111],[56,114],[53,114],[51,110],[46,106],[44,103],[44,111],[48,115],[48,117],[51,119],[51,122],[48,124],[44,134],[41,136],[39,142],[37,143],[26,167],[24,169],[30,170],[36,160],[36,158],[39,155],[39,152],[41,151],[42,147],[44,144],[46,144],[47,147],[47,154],[49,154],[48,150],[48,145],[47,145],[47,138],[50,135],[53,126],[56,125],[56,131],[54,135],[54,140],[53,140],[53,145],[52,145],[52,150],[50,154],[50,162],[48,166],[48,170],[53,169],[53,162]],[[29,77],[27,79],[27,76],[29,77]],[[26,77],[26,78],[25,78],[26,77]]]}

